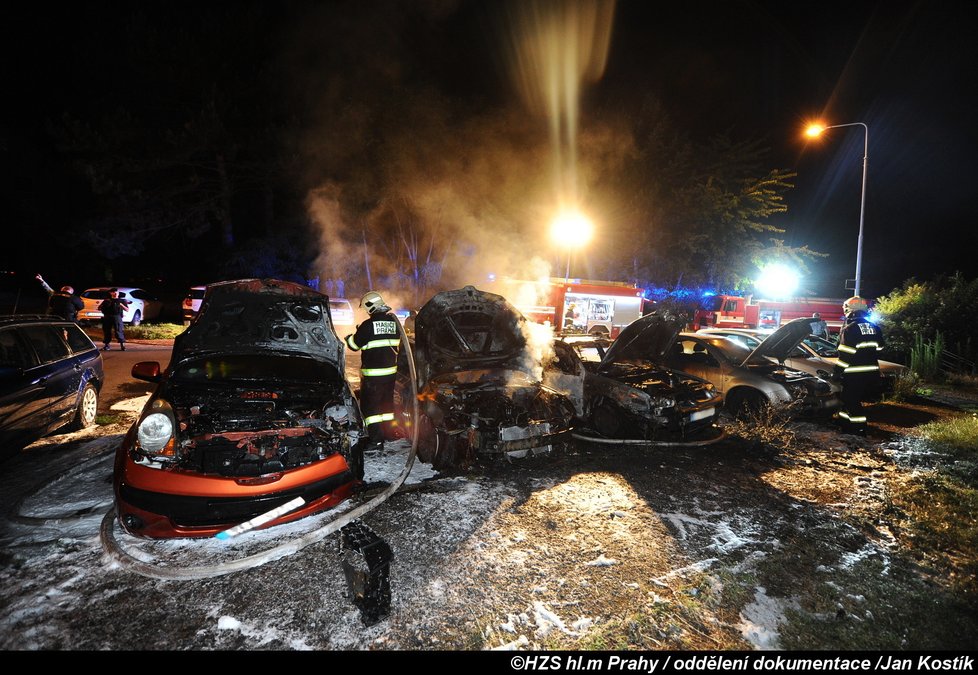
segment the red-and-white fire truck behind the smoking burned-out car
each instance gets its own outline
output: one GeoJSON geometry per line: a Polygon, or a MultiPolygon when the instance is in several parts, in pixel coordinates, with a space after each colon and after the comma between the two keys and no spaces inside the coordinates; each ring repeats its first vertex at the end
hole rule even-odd
{"type": "Polygon", "coordinates": [[[564,334],[618,337],[622,328],[642,316],[647,304],[641,288],[618,281],[504,278],[492,285],[495,288],[488,290],[504,296],[528,320],[564,334]]]}

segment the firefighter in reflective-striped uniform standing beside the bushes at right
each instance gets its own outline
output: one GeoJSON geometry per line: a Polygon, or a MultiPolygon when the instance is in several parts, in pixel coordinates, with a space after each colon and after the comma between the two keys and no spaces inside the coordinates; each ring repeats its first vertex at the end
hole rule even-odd
{"type": "Polygon", "coordinates": [[[866,433],[864,401],[879,400],[883,332],[869,320],[869,305],[858,295],[842,305],[845,325],[839,331],[839,360],[833,379],[842,383],[842,410],[838,420],[850,433],[866,433]]]}

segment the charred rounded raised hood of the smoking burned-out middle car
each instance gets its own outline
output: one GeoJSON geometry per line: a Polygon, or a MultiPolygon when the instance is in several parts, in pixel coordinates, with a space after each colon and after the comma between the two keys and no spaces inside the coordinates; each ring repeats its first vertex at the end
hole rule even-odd
{"type": "Polygon", "coordinates": [[[529,371],[526,319],[506,298],[466,286],[436,294],[415,319],[418,384],[467,370],[529,371]]]}

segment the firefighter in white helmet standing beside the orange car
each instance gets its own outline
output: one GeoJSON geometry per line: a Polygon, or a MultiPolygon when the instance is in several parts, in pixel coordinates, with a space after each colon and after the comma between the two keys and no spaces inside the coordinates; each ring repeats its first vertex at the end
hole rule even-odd
{"type": "Polygon", "coordinates": [[[400,333],[397,317],[384,298],[370,291],[360,298],[367,320],[345,338],[346,345],[360,355],[360,408],[370,438],[369,449],[384,447],[388,428],[394,420],[394,382],[397,379],[397,351],[400,333]]]}

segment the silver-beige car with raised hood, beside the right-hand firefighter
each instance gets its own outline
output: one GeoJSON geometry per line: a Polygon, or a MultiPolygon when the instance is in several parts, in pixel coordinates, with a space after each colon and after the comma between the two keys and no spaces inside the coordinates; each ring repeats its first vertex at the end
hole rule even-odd
{"type": "Polygon", "coordinates": [[[795,319],[754,349],[721,335],[680,333],[666,364],[712,382],[734,414],[757,410],[765,403],[792,404],[799,412],[827,412],[842,404],[839,387],[783,365],[810,332],[811,319],[795,319]]]}

